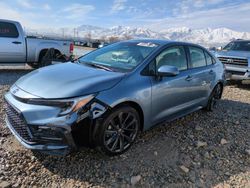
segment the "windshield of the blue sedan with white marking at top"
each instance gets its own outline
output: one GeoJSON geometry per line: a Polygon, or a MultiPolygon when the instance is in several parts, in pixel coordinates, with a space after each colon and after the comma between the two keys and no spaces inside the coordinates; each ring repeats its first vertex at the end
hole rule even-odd
{"type": "Polygon", "coordinates": [[[79,59],[79,63],[129,72],[142,63],[157,46],[147,42],[120,42],[84,55],[79,59]]]}

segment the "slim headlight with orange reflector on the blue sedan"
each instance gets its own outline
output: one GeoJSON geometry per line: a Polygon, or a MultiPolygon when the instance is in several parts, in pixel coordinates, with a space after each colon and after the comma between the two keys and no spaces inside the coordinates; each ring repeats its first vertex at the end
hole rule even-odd
{"type": "Polygon", "coordinates": [[[55,106],[61,109],[60,115],[65,115],[70,112],[77,112],[79,109],[84,107],[90,102],[95,96],[87,95],[84,97],[62,99],[62,100],[49,100],[49,99],[28,99],[28,104],[44,105],[44,106],[55,106]]]}

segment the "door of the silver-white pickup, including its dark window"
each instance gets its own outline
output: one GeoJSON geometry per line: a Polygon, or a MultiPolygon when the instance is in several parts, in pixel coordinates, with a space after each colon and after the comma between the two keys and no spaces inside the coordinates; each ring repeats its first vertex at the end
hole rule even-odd
{"type": "Polygon", "coordinates": [[[0,21],[0,62],[25,62],[24,38],[14,23],[0,21]]]}

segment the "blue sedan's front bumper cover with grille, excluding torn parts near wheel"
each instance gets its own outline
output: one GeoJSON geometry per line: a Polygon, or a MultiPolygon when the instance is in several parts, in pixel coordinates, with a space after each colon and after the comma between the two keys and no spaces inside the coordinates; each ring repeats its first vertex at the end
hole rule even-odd
{"type": "MultiPolygon", "coordinates": [[[[10,93],[6,94],[5,101],[6,125],[27,149],[65,155],[77,148],[71,134],[76,117],[42,116],[41,114],[46,113],[44,108],[21,103],[10,93]],[[34,114],[37,119],[34,119],[34,114]]],[[[48,111],[48,114],[51,115],[51,111],[48,111]]]]}

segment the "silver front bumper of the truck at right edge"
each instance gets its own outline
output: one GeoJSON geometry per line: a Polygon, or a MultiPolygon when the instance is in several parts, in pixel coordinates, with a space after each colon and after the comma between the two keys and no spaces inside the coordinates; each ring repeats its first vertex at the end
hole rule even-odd
{"type": "Polygon", "coordinates": [[[225,65],[227,80],[250,80],[250,67],[225,65]]]}

